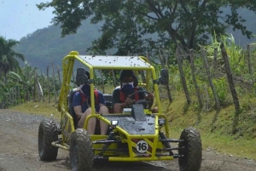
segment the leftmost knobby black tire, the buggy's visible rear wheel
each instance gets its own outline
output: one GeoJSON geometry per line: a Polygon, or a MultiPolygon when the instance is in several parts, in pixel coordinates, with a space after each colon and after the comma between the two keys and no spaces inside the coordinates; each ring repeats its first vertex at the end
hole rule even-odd
{"type": "Polygon", "coordinates": [[[58,140],[58,129],[54,121],[44,120],[38,129],[38,152],[40,160],[55,160],[58,154],[58,148],[51,145],[53,141],[58,140]]]}

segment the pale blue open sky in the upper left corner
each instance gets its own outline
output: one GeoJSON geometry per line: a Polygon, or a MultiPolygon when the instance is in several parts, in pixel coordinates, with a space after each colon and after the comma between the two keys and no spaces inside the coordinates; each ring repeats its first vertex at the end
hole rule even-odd
{"type": "Polygon", "coordinates": [[[20,41],[27,34],[52,25],[53,9],[39,10],[36,4],[50,0],[0,0],[0,36],[20,41]]]}

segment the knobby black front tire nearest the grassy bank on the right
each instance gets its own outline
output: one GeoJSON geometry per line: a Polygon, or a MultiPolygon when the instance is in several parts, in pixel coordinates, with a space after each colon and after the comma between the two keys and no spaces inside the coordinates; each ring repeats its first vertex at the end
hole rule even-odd
{"type": "Polygon", "coordinates": [[[195,128],[185,128],[180,135],[178,147],[184,147],[178,150],[178,165],[180,171],[198,171],[201,168],[201,135],[195,128]]]}

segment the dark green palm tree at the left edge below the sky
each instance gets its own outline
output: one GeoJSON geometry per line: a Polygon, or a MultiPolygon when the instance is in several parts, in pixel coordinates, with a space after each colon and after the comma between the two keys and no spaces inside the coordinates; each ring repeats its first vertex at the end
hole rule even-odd
{"type": "Polygon", "coordinates": [[[6,74],[9,71],[20,69],[19,62],[15,57],[24,61],[24,55],[13,49],[18,43],[14,39],[6,40],[4,37],[0,37],[0,71],[3,73],[5,84],[7,84],[6,74]]]}

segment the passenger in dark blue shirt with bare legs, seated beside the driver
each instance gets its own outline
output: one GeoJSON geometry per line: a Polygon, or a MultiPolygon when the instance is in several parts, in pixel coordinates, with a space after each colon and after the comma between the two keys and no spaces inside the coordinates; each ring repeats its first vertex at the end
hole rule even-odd
{"type": "MultiPolygon", "coordinates": [[[[87,80],[88,78],[90,79],[90,73],[88,71],[85,71],[84,74],[86,75],[87,80]]],[[[94,89],[94,94],[96,113],[108,114],[108,107],[105,105],[102,92],[94,89]]],[[[86,117],[91,114],[90,102],[90,84],[84,83],[82,86],[80,86],[79,91],[73,95],[73,110],[78,120],[78,128],[84,128],[84,121],[86,117]]],[[[87,131],[89,134],[95,134],[96,120],[96,117],[90,118],[87,126],[87,131]]],[[[101,134],[107,134],[108,124],[100,120],[100,129],[101,134]]]]}

